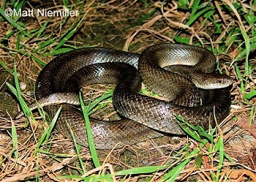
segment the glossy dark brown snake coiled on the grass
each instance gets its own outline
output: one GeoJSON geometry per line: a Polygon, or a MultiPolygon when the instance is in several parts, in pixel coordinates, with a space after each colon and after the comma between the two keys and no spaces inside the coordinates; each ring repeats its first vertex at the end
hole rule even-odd
{"type": "Polygon", "coordinates": [[[123,119],[90,118],[90,124],[96,148],[120,148],[164,133],[184,134],[175,116],[206,129],[221,122],[230,111],[228,86],[232,81],[226,75],[213,73],[214,69],[214,55],[193,45],[159,44],[142,54],[78,49],[54,58],[42,69],[35,94],[39,105],[48,105],[46,111],[51,118],[62,105],[58,131],[71,138],[71,128],[78,143],[87,145],[85,122],[76,106],[79,89],[94,83],[116,84],[113,104],[123,119]],[[138,93],[141,80],[167,101],[138,93]],[[51,104],[56,102],[62,104],[51,104]]]}

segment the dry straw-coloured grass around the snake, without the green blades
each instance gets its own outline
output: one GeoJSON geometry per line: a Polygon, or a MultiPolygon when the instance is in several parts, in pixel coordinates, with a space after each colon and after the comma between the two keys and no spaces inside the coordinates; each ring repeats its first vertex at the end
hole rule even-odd
{"type": "MultiPolygon", "coordinates": [[[[182,2],[182,1],[179,1],[182,2]]],[[[255,16],[256,6],[254,1],[214,1],[204,2],[206,9],[212,7],[214,14],[207,18],[204,16],[195,18],[193,22],[193,2],[189,1],[188,9],[182,7],[178,1],[170,1],[166,4],[154,1],[87,1],[70,2],[74,10],[81,10],[77,18],[16,18],[17,22],[22,22],[25,26],[24,32],[30,36],[22,34],[17,27],[11,26],[5,18],[1,18],[0,25],[0,61],[5,63],[0,68],[0,180],[56,180],[64,175],[93,176],[98,173],[118,172],[126,168],[138,166],[154,166],[169,163],[175,164],[179,161],[180,149],[190,144],[190,150],[199,144],[195,140],[187,137],[171,138],[162,137],[156,140],[149,140],[142,144],[126,146],[114,151],[98,151],[98,156],[102,162],[100,168],[94,168],[88,148],[81,148],[80,156],[86,167],[86,173],[82,174],[82,169],[78,163],[78,156],[74,152],[72,141],[66,140],[57,132],[54,132],[47,144],[43,144],[41,150],[34,153],[38,145],[38,140],[43,131],[48,127],[46,121],[38,118],[34,123],[32,120],[14,121],[14,114],[19,109],[18,102],[10,94],[6,87],[6,81],[13,84],[12,72],[14,65],[17,65],[18,79],[22,85],[22,96],[28,102],[34,101],[34,81],[37,78],[42,65],[37,61],[50,61],[53,56],[59,38],[72,27],[74,22],[79,22],[76,33],[65,42],[62,47],[74,47],[82,45],[106,46],[114,49],[124,49],[130,52],[142,52],[147,46],[159,42],[186,42],[199,44],[212,48],[218,57],[221,65],[219,70],[234,78],[232,88],[232,105],[229,117],[222,123],[220,135],[224,140],[225,151],[232,156],[234,162],[224,160],[222,172],[219,180],[228,181],[256,181],[256,125],[255,125],[255,97],[245,99],[246,93],[255,89],[255,54],[254,47],[254,26],[246,21],[244,14],[255,16]],[[156,11],[154,12],[154,9],[156,11]],[[192,10],[192,13],[191,13],[192,10]],[[154,12],[148,18],[146,14],[154,12]],[[145,20],[143,19],[145,18],[145,20]],[[47,23],[42,34],[37,38],[38,29],[47,23]],[[130,27],[130,28],[127,28],[130,27]],[[242,32],[249,36],[242,35],[242,32]],[[6,37],[8,34],[10,36],[6,37]],[[53,40],[45,47],[38,49],[43,42],[53,40]],[[248,59],[242,51],[248,49],[246,41],[251,43],[248,59]],[[36,51],[35,51],[36,50],[36,51]],[[36,58],[34,58],[36,57],[36,58]],[[250,70],[246,61],[249,61],[250,70]],[[242,74],[239,77],[238,70],[242,74]],[[244,85],[244,86],[243,86],[244,85]],[[250,121],[252,121],[250,123],[250,121]],[[15,126],[18,133],[17,153],[13,150],[12,126],[15,126]],[[50,149],[48,151],[48,148],[50,149]]],[[[4,2],[0,2],[1,7],[4,2]]],[[[6,3],[10,6],[10,3],[6,3]]],[[[200,3],[202,5],[202,3],[200,3]]],[[[62,9],[59,2],[31,1],[25,4],[25,9],[52,8],[62,9]]],[[[7,8],[7,7],[6,7],[7,8]]],[[[71,8],[69,6],[68,8],[71,8]]],[[[199,10],[198,10],[199,12],[199,10]]],[[[207,11],[209,13],[210,11],[207,11]]],[[[210,14],[210,13],[209,13],[210,14]]],[[[196,15],[196,14],[195,14],[196,15]]],[[[102,93],[102,87],[90,89],[102,93]]],[[[35,114],[36,115],[36,114],[35,114]]],[[[110,112],[109,115],[112,115],[110,112]]],[[[178,180],[213,180],[211,172],[218,171],[218,154],[209,155],[206,148],[201,148],[202,165],[196,168],[194,160],[191,160],[186,168],[178,176],[178,180]],[[216,157],[216,158],[215,158],[216,157]]],[[[137,181],[146,180],[151,176],[150,181],[161,181],[162,176],[168,172],[155,172],[151,174],[140,174],[134,176],[115,176],[112,180],[137,181]]],[[[73,177],[72,180],[78,180],[73,177]]]]}

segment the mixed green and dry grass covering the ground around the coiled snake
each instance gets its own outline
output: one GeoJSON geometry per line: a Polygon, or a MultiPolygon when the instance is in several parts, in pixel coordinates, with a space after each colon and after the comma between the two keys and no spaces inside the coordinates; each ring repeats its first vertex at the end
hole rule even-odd
{"type": "MultiPolygon", "coordinates": [[[[1,82],[0,89],[2,93],[6,92],[4,85],[8,86],[17,98],[19,106],[27,117],[26,123],[30,127],[20,130],[18,128],[21,127],[11,117],[0,117],[1,123],[10,121],[7,128],[10,129],[12,145],[10,150],[6,147],[0,152],[2,160],[0,180],[243,179],[253,181],[255,179],[253,176],[255,156],[250,152],[255,150],[253,147],[255,140],[244,137],[246,128],[240,125],[241,123],[250,127],[255,125],[255,59],[250,56],[256,48],[255,1],[231,3],[228,0],[214,2],[178,0],[160,3],[145,0],[134,4],[131,2],[118,4],[117,1],[78,0],[73,4],[70,1],[62,3],[70,10],[78,10],[79,16],[8,17],[5,10],[9,7],[27,10],[31,7],[36,9],[47,5],[43,2],[42,6],[38,7],[25,1],[2,2],[0,70],[4,74],[0,76],[6,80],[1,82]],[[5,30],[5,26],[9,29],[5,30]],[[130,148],[136,155],[149,153],[150,159],[154,160],[155,157],[158,161],[156,164],[134,164],[131,167],[126,164],[127,156],[124,156],[125,160],[118,158],[125,153],[126,148],[117,152],[107,152],[106,157],[103,157],[100,151],[95,150],[92,139],[90,139],[90,152],[76,144],[75,138],[74,144],[66,144],[69,141],[56,143],[54,138],[58,138],[58,135],[54,133],[54,125],[58,113],[49,124],[46,122],[40,124],[41,122],[33,117],[27,102],[24,101],[24,98],[29,100],[28,91],[33,90],[38,69],[42,69],[55,55],[98,44],[114,49],[141,52],[157,42],[186,43],[210,49],[217,56],[218,71],[233,77],[234,85],[231,93],[233,105],[230,116],[222,123],[221,129],[205,131],[186,124],[179,118],[182,124],[186,124],[181,126],[189,137],[179,139],[178,144],[174,144],[177,148],[172,152],[168,149],[170,145],[156,146],[153,142],[147,148],[136,146],[130,148]],[[27,84],[29,89],[22,90],[21,82],[32,82],[32,84],[27,84]],[[22,138],[23,135],[26,136],[25,139],[22,138]],[[234,144],[235,138],[239,138],[241,143],[234,144]],[[184,143],[181,144],[182,141],[184,143]],[[244,153],[242,156],[244,160],[240,158],[241,154],[234,152],[238,147],[243,151],[241,153],[244,153]],[[68,149],[63,152],[60,148],[68,149]],[[73,149],[73,153],[67,154],[67,151],[73,149]],[[117,158],[118,160],[115,160],[117,158]],[[30,162],[34,167],[30,168],[30,162]],[[237,177],[234,177],[235,175],[237,177]]],[[[54,3],[50,3],[50,7],[59,8],[54,3]]],[[[148,93],[146,89],[143,92],[148,93]]],[[[82,105],[88,136],[91,136],[88,115],[97,113],[102,105],[106,105],[98,105],[98,103],[106,101],[111,94],[106,92],[96,101],[90,101],[89,107],[82,105]]],[[[4,98],[1,97],[1,100],[4,98]]],[[[2,113],[6,113],[6,110],[11,113],[5,108],[1,110],[2,113]]],[[[58,112],[60,111],[61,109],[58,112]]],[[[5,125],[0,129],[6,130],[5,125]]],[[[137,160],[143,159],[142,157],[137,160]]]]}

